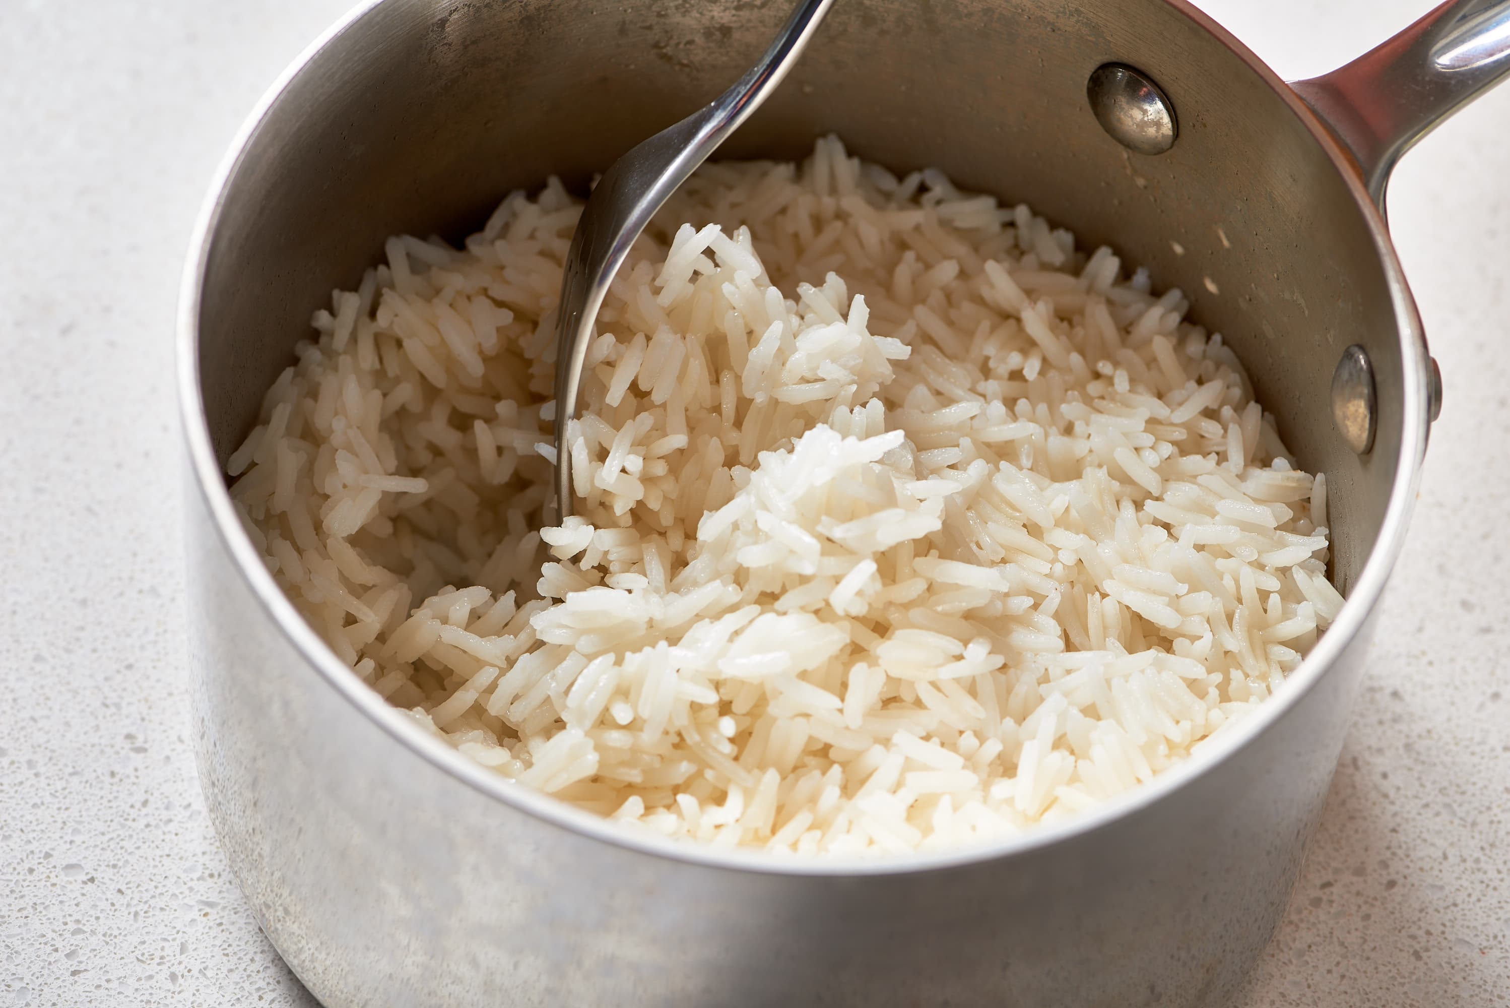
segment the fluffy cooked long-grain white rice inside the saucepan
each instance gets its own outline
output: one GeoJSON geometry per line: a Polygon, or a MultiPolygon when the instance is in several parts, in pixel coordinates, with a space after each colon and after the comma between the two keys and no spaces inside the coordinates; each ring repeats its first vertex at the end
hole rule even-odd
{"type": "Polygon", "coordinates": [[[503,777],[723,846],[1000,836],[1188,756],[1342,604],[1323,478],[1179,290],[837,139],[639,242],[542,527],[578,213],[390,239],[228,467],[335,653],[503,777]]]}

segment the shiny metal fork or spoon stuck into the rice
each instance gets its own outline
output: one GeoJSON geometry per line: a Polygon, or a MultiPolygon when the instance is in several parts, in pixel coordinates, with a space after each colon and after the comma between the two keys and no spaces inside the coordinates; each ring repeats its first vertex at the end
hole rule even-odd
{"type": "Polygon", "coordinates": [[[568,425],[598,308],[630,246],[676,186],[766,101],[802,56],[834,0],[800,0],[776,39],[732,88],[609,166],[592,190],[566,251],[556,332],[556,508],[571,514],[568,425]]]}

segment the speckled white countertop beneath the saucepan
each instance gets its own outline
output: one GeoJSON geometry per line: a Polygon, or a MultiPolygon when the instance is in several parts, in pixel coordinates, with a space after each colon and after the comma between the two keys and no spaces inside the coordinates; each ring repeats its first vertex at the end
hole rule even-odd
{"type": "MultiPolygon", "coordinates": [[[[1287,77],[1428,0],[1205,0],[1287,77]]],[[[189,750],[172,325],[242,116],[347,0],[0,0],[0,1008],[313,1005],[189,750]]],[[[1400,168],[1442,364],[1320,836],[1243,1008],[1510,1002],[1510,86],[1400,168]]]]}

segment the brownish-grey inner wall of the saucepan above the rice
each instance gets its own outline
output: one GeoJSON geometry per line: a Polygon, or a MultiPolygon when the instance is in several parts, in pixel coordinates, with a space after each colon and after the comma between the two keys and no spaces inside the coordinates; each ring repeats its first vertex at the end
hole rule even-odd
{"type": "MultiPolygon", "coordinates": [[[[581,187],[752,62],[788,0],[388,0],[276,100],[233,171],[208,252],[201,381],[223,461],[291,363],[314,308],[396,231],[459,237],[515,187],[581,187]]],[[[1163,0],[844,0],[770,104],[723,151],[805,154],[835,131],[897,171],[1027,201],[1181,287],[1246,363],[1300,461],[1327,475],[1335,570],[1377,535],[1401,441],[1398,320],[1364,213],[1302,121],[1244,60],[1163,0]],[[1132,63],[1179,141],[1129,154],[1086,79],[1132,63]],[[1176,248],[1178,243],[1178,248],[1176,248]],[[1182,251],[1181,251],[1182,249],[1182,251]],[[1368,348],[1373,453],[1336,435],[1329,382],[1368,348]]]]}

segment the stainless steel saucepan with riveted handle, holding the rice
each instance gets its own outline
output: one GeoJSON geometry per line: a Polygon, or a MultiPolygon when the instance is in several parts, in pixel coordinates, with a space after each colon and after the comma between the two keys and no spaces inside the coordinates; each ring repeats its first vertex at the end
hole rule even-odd
{"type": "Polygon", "coordinates": [[[332,286],[391,233],[461,236],[512,187],[581,184],[719,94],[788,6],[365,3],[214,183],[180,332],[199,772],[263,928],[328,1005],[1217,1005],[1273,934],[1439,400],[1379,201],[1505,71],[1505,0],[1447,3],[1293,88],[1182,0],[843,0],[720,153],[837,131],[1113,245],[1190,293],[1327,475],[1339,620],[1229,739],[1090,815],[864,864],[625,836],[390,710],[240,530],[223,461],[332,286]]]}

